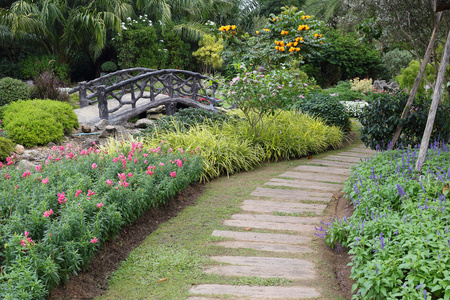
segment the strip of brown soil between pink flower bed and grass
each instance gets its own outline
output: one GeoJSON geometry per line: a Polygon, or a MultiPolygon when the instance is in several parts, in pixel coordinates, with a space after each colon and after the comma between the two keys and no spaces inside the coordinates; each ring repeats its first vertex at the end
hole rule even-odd
{"type": "Polygon", "coordinates": [[[191,184],[166,206],[147,211],[134,224],[124,227],[120,234],[105,242],[97,251],[85,272],[70,277],[64,285],[54,288],[50,299],[94,299],[103,295],[109,276],[160,224],[176,217],[180,211],[194,205],[203,194],[204,184],[191,184]]]}

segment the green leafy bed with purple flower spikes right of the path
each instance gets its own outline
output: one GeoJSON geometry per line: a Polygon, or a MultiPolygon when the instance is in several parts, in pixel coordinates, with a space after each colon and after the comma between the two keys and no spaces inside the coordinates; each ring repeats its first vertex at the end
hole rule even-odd
{"type": "Polygon", "coordinates": [[[354,256],[354,299],[450,296],[449,151],[433,145],[421,174],[413,172],[418,149],[381,152],[354,168],[344,187],[353,215],[325,237],[354,256]]]}

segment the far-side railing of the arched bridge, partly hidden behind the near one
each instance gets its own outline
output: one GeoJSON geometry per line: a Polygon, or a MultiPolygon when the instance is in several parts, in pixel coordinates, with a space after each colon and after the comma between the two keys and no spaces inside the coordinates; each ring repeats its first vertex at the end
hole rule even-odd
{"type": "Polygon", "coordinates": [[[97,87],[100,85],[105,85],[107,87],[118,84],[124,80],[133,78],[134,76],[141,75],[147,72],[156,71],[155,69],[148,68],[131,68],[119,70],[107,75],[103,75],[91,81],[82,81],[78,83],[78,86],[68,91],[69,94],[78,92],[80,97],[80,107],[86,107],[90,104],[97,102],[97,99],[89,100],[87,98],[89,94],[95,94],[97,92],[97,87]]]}

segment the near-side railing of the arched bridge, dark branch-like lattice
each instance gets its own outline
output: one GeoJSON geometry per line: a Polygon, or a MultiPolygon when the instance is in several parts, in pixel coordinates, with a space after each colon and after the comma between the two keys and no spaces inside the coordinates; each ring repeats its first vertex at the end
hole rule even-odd
{"type": "MultiPolygon", "coordinates": [[[[109,78],[111,78],[114,76],[114,73],[109,75],[109,78]]],[[[87,103],[98,102],[101,119],[108,119],[110,113],[116,112],[124,105],[131,105],[132,108],[136,108],[136,102],[139,99],[150,99],[151,102],[154,102],[156,97],[160,95],[166,96],[167,100],[183,99],[186,102],[189,99],[194,102],[208,103],[209,109],[212,110],[220,102],[215,97],[218,83],[203,74],[191,71],[175,69],[151,70],[126,78],[120,82],[116,80],[116,82],[109,85],[94,85],[92,84],[94,81],[90,82],[92,85],[90,91],[92,93],[87,95],[85,99],[87,103]],[[127,97],[124,97],[125,95],[127,97]],[[116,100],[118,102],[117,106],[108,109],[108,99],[116,100]]],[[[105,80],[101,82],[97,80],[95,83],[104,82],[105,80]]],[[[81,88],[79,91],[81,91],[81,88]]],[[[167,114],[172,113],[170,111],[167,114]]]]}

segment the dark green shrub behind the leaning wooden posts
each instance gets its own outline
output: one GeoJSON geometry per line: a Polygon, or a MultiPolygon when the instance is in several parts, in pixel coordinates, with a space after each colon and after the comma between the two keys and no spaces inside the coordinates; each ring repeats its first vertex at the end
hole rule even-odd
{"type": "MultiPolygon", "coordinates": [[[[402,135],[398,145],[414,146],[420,143],[428,119],[430,100],[419,97],[405,120],[401,120],[403,109],[408,100],[408,94],[403,91],[379,93],[377,98],[369,100],[369,105],[363,108],[359,117],[361,122],[361,140],[372,149],[386,149],[392,140],[395,129],[403,124],[402,135]]],[[[450,122],[448,105],[439,104],[432,140],[448,141],[450,138],[450,122]]]]}

